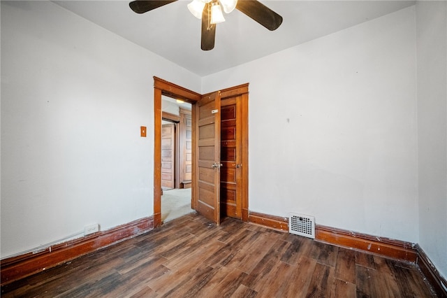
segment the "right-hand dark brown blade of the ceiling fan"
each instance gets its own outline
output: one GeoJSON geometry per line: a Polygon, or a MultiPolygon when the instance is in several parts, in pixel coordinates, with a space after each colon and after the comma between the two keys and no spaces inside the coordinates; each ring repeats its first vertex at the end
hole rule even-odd
{"type": "Polygon", "coordinates": [[[236,9],[248,15],[270,31],[278,29],[282,23],[281,15],[256,0],[237,1],[236,9]]]}

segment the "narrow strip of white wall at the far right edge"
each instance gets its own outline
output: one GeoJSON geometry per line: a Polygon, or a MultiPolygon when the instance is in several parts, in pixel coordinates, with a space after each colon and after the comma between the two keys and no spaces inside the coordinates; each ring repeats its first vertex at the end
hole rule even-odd
{"type": "Polygon", "coordinates": [[[419,244],[447,277],[447,2],[420,1],[416,14],[419,244]]]}

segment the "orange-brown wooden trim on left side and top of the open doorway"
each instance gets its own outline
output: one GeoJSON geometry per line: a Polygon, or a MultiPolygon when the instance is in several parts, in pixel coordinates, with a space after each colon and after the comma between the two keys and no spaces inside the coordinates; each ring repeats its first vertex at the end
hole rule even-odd
{"type": "Polygon", "coordinates": [[[202,96],[154,76],[154,227],[161,226],[161,95],[195,104],[202,96]]]}

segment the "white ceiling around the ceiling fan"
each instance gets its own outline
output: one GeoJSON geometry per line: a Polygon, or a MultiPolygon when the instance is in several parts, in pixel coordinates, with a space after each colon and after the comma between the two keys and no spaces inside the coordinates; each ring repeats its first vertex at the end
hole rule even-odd
{"type": "MultiPolygon", "coordinates": [[[[243,1],[243,0],[240,0],[243,1]]],[[[269,31],[238,10],[217,24],[213,50],[200,49],[201,21],[180,0],[141,15],[130,1],[54,1],[179,66],[207,76],[273,52],[393,13],[414,1],[261,1],[283,17],[269,31]]]]}

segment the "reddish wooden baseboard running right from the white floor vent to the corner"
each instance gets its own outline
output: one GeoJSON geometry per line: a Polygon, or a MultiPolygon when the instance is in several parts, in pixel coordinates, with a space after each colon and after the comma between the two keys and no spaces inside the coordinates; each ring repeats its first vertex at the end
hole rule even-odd
{"type": "Polygon", "coordinates": [[[416,262],[418,255],[414,243],[383,237],[358,234],[344,229],[316,225],[315,239],[336,246],[356,248],[369,253],[391,257],[395,260],[416,262]]]}

